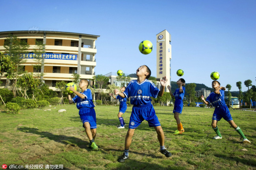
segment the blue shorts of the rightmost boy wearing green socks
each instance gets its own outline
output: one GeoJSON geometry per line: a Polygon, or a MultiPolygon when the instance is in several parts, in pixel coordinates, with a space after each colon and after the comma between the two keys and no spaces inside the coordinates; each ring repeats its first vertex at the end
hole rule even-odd
{"type": "Polygon", "coordinates": [[[226,105],[216,107],[213,112],[212,120],[220,121],[221,118],[223,118],[225,121],[233,120],[228,110],[228,106],[226,105]]]}

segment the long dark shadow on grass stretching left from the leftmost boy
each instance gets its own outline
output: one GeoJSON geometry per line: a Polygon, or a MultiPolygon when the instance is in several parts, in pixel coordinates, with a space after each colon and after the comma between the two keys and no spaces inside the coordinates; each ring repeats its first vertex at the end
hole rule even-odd
{"type": "Polygon", "coordinates": [[[84,148],[86,150],[90,150],[88,148],[89,142],[83,141],[82,139],[79,139],[77,137],[70,137],[70,136],[65,136],[65,135],[54,135],[50,132],[39,132],[37,128],[18,128],[17,130],[24,132],[24,133],[32,133],[32,134],[37,134],[40,135],[41,137],[46,137],[50,140],[63,143],[63,144],[70,144],[71,146],[78,146],[80,148],[84,148]]]}

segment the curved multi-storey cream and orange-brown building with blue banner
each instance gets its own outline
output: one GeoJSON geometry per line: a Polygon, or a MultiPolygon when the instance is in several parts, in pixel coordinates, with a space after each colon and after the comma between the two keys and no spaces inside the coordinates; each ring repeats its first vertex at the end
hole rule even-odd
{"type": "MultiPolygon", "coordinates": [[[[29,46],[28,54],[24,54],[25,62],[21,64],[24,70],[30,73],[37,73],[35,69],[37,61],[33,58],[33,50],[36,48],[36,41],[42,41],[45,45],[42,63],[44,67],[40,69],[43,80],[50,89],[56,91],[56,82],[64,80],[71,82],[72,74],[77,73],[80,79],[92,79],[95,75],[96,40],[99,35],[82,33],[69,33],[60,31],[4,31],[0,32],[0,51],[4,53],[4,43],[9,35],[17,36],[20,40],[27,42],[29,46]]],[[[35,74],[34,74],[35,75],[35,74]]],[[[0,88],[4,88],[9,80],[6,77],[1,79],[0,88]]],[[[90,85],[94,82],[90,80],[90,85]]]]}

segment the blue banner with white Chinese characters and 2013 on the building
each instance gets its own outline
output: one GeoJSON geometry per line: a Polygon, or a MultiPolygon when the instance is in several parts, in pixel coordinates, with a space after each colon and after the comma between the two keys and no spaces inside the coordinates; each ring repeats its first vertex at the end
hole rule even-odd
{"type": "MultiPolygon", "coordinates": [[[[22,54],[20,58],[35,58],[35,53],[22,54]]],[[[77,55],[74,54],[50,54],[44,53],[39,56],[45,59],[58,59],[58,60],[77,60],[77,55]]]]}

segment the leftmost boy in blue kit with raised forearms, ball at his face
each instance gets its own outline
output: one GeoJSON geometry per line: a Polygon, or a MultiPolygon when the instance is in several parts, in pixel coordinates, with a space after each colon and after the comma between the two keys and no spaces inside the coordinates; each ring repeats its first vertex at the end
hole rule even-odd
{"type": "Polygon", "coordinates": [[[90,141],[89,148],[92,148],[93,150],[98,150],[98,146],[94,142],[97,128],[96,113],[94,110],[91,90],[87,89],[88,84],[88,80],[80,80],[79,87],[81,88],[82,92],[78,92],[70,86],[69,89],[73,91],[76,94],[76,96],[73,99],[71,99],[71,96],[69,94],[69,104],[76,103],[76,107],[79,109],[80,119],[83,122],[85,133],[90,141]]]}

